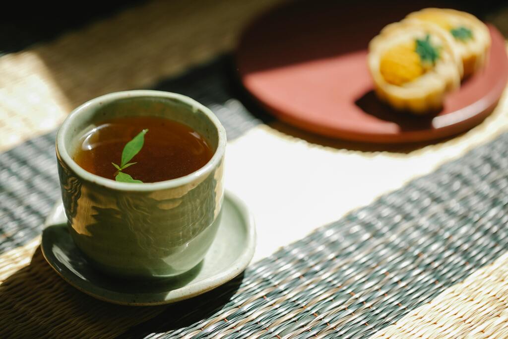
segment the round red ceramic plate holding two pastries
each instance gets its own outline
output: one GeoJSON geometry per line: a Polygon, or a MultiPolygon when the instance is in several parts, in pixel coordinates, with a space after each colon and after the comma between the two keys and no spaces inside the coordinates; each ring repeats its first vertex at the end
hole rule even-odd
{"type": "Polygon", "coordinates": [[[267,13],[241,39],[241,81],[281,120],[330,137],[402,143],[444,138],[478,125],[497,104],[508,78],[504,38],[490,25],[487,66],[449,94],[440,112],[413,116],[375,97],[366,48],[386,24],[428,7],[405,3],[396,9],[382,2],[296,3],[267,13]]]}

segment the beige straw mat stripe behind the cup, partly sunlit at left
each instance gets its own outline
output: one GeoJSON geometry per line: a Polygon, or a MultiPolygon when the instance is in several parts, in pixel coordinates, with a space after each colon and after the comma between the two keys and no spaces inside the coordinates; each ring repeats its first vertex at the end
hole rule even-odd
{"type": "Polygon", "coordinates": [[[154,1],[0,56],[0,150],[55,129],[78,105],[143,88],[231,50],[277,0],[154,1]]]}

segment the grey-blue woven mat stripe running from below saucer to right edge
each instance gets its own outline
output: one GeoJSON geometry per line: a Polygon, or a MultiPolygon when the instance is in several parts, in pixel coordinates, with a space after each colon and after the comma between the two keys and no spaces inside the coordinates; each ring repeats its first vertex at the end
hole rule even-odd
{"type": "MultiPolygon", "coordinates": [[[[168,324],[176,310],[170,307],[166,317],[147,325],[161,333],[148,337],[361,338],[418,311],[480,267],[506,262],[501,256],[508,249],[507,143],[504,134],[252,265],[238,291],[206,319],[190,313],[168,324]],[[187,326],[179,328],[181,323],[187,326]]],[[[493,290],[504,284],[496,275],[485,282],[493,290]]],[[[498,304],[505,297],[489,295],[498,304]]],[[[447,316],[450,325],[464,320],[478,325],[483,319],[475,314],[481,312],[480,307],[447,316]]],[[[423,331],[426,322],[417,319],[409,326],[423,331]]]]}

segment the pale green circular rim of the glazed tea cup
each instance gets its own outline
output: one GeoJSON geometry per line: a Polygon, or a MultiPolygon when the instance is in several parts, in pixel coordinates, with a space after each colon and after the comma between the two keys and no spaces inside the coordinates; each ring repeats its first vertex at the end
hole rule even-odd
{"type": "Polygon", "coordinates": [[[172,189],[175,187],[180,187],[190,182],[193,182],[201,177],[207,176],[211,173],[220,163],[221,159],[224,156],[226,151],[226,130],[224,126],[220,124],[219,119],[213,114],[213,112],[206,106],[200,104],[196,100],[189,98],[187,96],[166,92],[161,90],[148,90],[148,89],[136,89],[136,90],[126,90],[119,91],[110,94],[106,94],[94,99],[91,99],[79,107],[75,108],[71,114],[67,116],[67,118],[63,121],[62,125],[58,129],[56,133],[56,152],[60,159],[67,165],[69,168],[76,173],[78,177],[81,179],[99,184],[100,186],[116,190],[116,191],[125,191],[125,192],[148,192],[155,190],[164,190],[164,189],[172,189]],[[99,105],[100,103],[109,103],[119,99],[124,98],[139,98],[139,97],[152,97],[152,98],[169,98],[179,100],[190,107],[193,110],[201,110],[212,122],[218,132],[218,142],[217,149],[213,153],[212,158],[201,168],[198,170],[189,173],[187,175],[170,179],[164,181],[156,181],[156,182],[120,182],[112,179],[104,178],[97,174],[90,173],[81,166],[79,166],[69,155],[67,151],[67,147],[65,145],[65,137],[72,128],[73,121],[76,117],[83,112],[86,112],[90,107],[99,105]]]}

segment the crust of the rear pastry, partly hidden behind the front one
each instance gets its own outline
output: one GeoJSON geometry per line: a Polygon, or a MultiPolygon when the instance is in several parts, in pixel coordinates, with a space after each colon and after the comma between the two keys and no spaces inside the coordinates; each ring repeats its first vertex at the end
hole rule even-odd
{"type": "Polygon", "coordinates": [[[462,59],[464,77],[477,72],[485,65],[491,44],[489,28],[474,15],[453,9],[426,8],[410,13],[407,19],[437,24],[447,31],[452,37],[454,49],[462,59]],[[451,29],[456,27],[469,29],[472,38],[456,39],[451,33],[451,29]]]}

